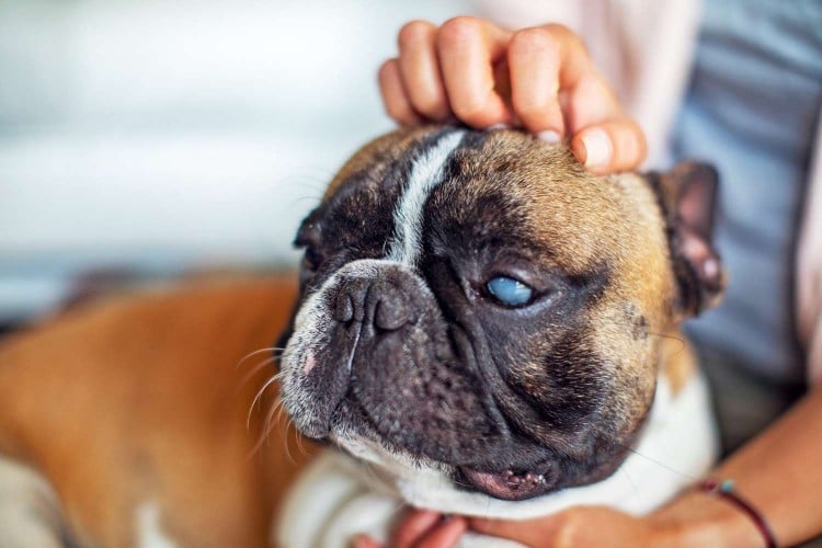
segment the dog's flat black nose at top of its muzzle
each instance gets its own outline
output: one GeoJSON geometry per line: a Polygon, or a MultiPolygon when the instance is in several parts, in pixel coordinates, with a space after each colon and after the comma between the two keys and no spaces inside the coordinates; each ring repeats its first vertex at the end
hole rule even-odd
{"type": "Polygon", "coordinates": [[[362,322],[381,331],[396,331],[415,317],[402,289],[385,279],[346,279],[340,284],[334,319],[341,323],[362,322]]]}

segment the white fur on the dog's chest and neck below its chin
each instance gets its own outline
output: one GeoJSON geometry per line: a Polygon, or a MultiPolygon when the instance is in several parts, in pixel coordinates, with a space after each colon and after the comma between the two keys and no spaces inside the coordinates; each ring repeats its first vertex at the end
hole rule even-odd
{"type": "MultiPolygon", "coordinates": [[[[643,514],[704,475],[716,459],[717,447],[707,386],[697,375],[675,398],[671,397],[667,383],[660,381],[639,442],[610,477],[527,501],[501,501],[460,491],[436,471],[380,469],[327,452],[295,484],[274,533],[275,544],[288,548],[343,548],[359,533],[385,539],[392,518],[406,504],[510,520],[549,515],[580,504],[643,514]]],[[[514,545],[473,535],[466,536],[460,546],[514,545]]]]}

